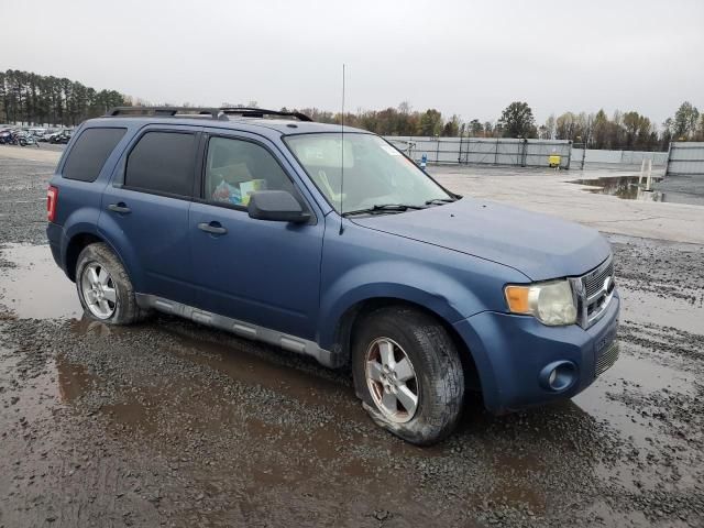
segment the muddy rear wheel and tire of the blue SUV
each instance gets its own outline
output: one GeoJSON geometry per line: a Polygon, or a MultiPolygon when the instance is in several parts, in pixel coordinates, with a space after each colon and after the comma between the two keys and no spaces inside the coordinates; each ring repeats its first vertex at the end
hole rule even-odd
{"type": "Polygon", "coordinates": [[[87,245],[78,255],[76,290],[84,311],[91,319],[108,324],[131,324],[147,316],[136,304],[124,266],[102,242],[87,245]]]}

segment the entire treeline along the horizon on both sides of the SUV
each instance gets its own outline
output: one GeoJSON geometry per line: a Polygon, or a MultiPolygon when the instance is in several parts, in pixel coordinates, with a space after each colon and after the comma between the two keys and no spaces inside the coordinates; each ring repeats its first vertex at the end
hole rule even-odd
{"type": "MultiPolygon", "coordinates": [[[[8,69],[0,72],[0,123],[75,125],[103,114],[109,108],[148,102],[114,90],[96,90],[66,78],[8,69]]],[[[184,106],[191,106],[185,103],[184,106]]],[[[224,105],[232,106],[232,105],[224,105]]],[[[251,101],[248,106],[256,106],[251,101]]],[[[285,108],[283,110],[286,110],[285,108]]],[[[317,108],[299,111],[315,121],[341,123],[341,113],[317,108]]],[[[526,102],[508,105],[495,121],[443,117],[436,109],[413,110],[408,102],[384,110],[345,112],[344,123],[382,135],[433,135],[465,138],[540,138],[570,140],[587,148],[664,151],[670,141],[704,141],[704,113],[683,102],[671,118],[656,123],[636,111],[608,117],[565,112],[537,125],[526,102]]]]}

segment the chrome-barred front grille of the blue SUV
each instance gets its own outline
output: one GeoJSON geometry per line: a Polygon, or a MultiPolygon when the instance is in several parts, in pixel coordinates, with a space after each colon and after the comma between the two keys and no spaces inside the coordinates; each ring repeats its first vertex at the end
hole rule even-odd
{"type": "Polygon", "coordinates": [[[578,304],[579,323],[588,328],[601,319],[614,297],[614,261],[609,256],[581,277],[572,280],[572,289],[578,304]]]}

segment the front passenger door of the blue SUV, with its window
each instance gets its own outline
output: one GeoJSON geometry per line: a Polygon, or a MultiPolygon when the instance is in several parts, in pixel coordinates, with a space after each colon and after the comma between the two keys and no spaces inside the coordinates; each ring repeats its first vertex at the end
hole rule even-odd
{"type": "Polygon", "coordinates": [[[198,306],[315,339],[324,222],[276,146],[255,134],[205,135],[200,198],[190,209],[198,306]],[[287,190],[312,212],[307,224],[249,217],[248,193],[287,190]]]}

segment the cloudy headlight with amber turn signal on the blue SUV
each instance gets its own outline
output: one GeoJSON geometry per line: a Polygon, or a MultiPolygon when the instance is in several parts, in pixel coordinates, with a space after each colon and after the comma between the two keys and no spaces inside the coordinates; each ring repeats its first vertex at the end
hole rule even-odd
{"type": "Polygon", "coordinates": [[[529,286],[506,286],[504,294],[513,314],[535,316],[550,327],[576,322],[572,286],[565,279],[529,286]]]}

